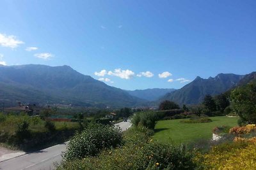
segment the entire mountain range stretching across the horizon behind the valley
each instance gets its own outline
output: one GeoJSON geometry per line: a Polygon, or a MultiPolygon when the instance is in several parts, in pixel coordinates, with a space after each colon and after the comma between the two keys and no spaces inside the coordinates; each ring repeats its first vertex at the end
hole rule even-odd
{"type": "Polygon", "coordinates": [[[0,103],[72,104],[91,107],[157,106],[163,100],[182,104],[201,103],[205,95],[215,96],[256,80],[256,72],[218,74],[191,81],[181,89],[122,90],[78,73],[69,66],[0,65],[0,103]]]}

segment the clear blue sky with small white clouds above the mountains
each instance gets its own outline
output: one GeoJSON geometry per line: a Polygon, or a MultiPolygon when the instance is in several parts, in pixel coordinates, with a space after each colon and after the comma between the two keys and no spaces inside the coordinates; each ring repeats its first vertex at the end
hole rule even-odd
{"type": "Polygon", "coordinates": [[[179,89],[196,76],[256,71],[255,9],[249,0],[2,0],[0,64],[68,65],[121,89],[179,89]]]}

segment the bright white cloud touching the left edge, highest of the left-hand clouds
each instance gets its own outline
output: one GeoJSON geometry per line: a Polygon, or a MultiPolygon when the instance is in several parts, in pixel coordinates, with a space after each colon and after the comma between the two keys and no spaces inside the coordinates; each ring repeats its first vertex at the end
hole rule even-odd
{"type": "Polygon", "coordinates": [[[5,34],[0,33],[0,45],[6,46],[10,48],[16,48],[20,44],[24,44],[23,41],[20,41],[19,39],[16,39],[15,36],[6,36],[5,34]]]}

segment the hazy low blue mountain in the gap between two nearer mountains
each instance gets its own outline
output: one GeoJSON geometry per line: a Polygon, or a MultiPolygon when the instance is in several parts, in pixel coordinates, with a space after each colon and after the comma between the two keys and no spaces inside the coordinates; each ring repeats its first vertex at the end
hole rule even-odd
{"type": "Polygon", "coordinates": [[[145,89],[145,90],[127,90],[131,96],[139,97],[147,101],[156,101],[159,97],[163,97],[168,92],[173,92],[176,89],[145,89]]]}

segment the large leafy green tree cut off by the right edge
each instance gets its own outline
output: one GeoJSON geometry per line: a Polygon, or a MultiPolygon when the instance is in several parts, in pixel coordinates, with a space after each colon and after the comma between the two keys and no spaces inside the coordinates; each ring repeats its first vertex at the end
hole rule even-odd
{"type": "Polygon", "coordinates": [[[231,101],[233,110],[243,122],[256,124],[256,82],[234,89],[231,101]]]}

